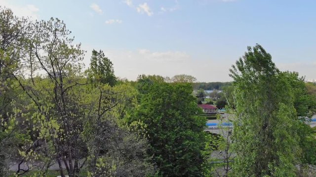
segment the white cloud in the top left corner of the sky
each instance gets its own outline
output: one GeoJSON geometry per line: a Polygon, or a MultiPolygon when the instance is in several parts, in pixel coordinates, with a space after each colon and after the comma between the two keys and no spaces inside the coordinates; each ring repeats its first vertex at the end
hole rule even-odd
{"type": "Polygon", "coordinates": [[[13,11],[13,14],[19,17],[30,17],[31,20],[39,19],[38,12],[40,11],[33,4],[28,4],[26,6],[13,5],[9,0],[0,0],[2,7],[10,8],[13,11]]]}

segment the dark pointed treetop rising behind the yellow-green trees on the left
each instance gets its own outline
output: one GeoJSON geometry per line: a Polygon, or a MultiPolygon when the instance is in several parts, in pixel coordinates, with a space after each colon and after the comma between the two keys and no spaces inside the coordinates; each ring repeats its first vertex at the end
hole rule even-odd
{"type": "Polygon", "coordinates": [[[102,50],[97,52],[93,49],[90,62],[90,70],[93,73],[92,76],[95,82],[109,84],[110,86],[114,86],[116,84],[113,63],[110,59],[105,57],[102,50]]]}

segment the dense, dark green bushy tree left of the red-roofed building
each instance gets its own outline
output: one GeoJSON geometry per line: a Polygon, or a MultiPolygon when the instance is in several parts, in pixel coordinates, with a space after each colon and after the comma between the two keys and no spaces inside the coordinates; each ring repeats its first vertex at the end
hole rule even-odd
{"type": "Polygon", "coordinates": [[[205,119],[196,114],[192,86],[154,82],[146,89],[130,121],[146,124],[150,154],[161,175],[201,176],[205,119]]]}

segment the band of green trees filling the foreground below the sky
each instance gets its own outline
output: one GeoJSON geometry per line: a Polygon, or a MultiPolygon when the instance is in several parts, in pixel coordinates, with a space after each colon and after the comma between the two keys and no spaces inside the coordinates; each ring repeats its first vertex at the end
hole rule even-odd
{"type": "Polygon", "coordinates": [[[1,8],[0,28],[0,176],[47,176],[56,163],[62,177],[283,177],[316,164],[314,86],[260,45],[230,70],[234,129],[213,136],[194,77],[122,80],[101,50],[84,70],[85,51],[59,19],[1,8]]]}

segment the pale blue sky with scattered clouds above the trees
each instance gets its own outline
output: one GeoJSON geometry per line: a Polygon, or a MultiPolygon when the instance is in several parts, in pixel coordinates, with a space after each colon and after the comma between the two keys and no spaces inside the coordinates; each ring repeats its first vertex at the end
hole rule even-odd
{"type": "Polygon", "coordinates": [[[316,0],[0,0],[17,16],[63,20],[75,42],[102,50],[116,76],[188,74],[232,81],[257,43],[282,70],[316,79],[316,0]]]}

